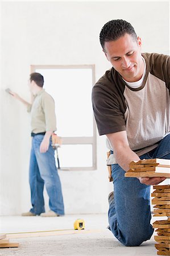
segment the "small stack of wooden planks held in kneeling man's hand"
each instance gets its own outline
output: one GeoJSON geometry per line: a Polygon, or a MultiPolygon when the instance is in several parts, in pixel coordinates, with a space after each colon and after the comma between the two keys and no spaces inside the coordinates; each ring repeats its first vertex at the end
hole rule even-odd
{"type": "Polygon", "coordinates": [[[170,178],[169,159],[143,159],[132,161],[125,177],[168,177],[170,178]]]}

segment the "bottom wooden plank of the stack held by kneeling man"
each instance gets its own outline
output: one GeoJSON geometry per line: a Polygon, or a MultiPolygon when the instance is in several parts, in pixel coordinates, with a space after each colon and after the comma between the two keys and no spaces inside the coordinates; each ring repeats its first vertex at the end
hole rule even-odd
{"type": "Polygon", "coordinates": [[[167,177],[170,178],[170,174],[161,174],[156,172],[125,172],[125,177],[167,177]]]}

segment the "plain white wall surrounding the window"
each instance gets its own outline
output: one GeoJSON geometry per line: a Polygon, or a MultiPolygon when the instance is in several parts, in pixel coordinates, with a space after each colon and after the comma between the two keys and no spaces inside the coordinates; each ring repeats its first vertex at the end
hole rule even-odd
{"type": "MultiPolygon", "coordinates": [[[[169,54],[169,2],[13,1],[2,2],[1,14],[1,214],[20,214],[31,207],[30,116],[5,88],[29,100],[31,64],[95,64],[98,80],[110,68],[98,38],[111,19],[125,19],[134,26],[143,39],[143,52],[169,54]]],[[[96,171],[59,171],[66,213],[107,211],[112,184],[106,151],[105,137],[97,135],[96,171]]]]}

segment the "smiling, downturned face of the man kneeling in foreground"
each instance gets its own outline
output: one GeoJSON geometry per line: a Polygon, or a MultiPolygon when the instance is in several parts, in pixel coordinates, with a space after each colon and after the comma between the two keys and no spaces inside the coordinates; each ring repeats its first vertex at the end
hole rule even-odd
{"type": "Polygon", "coordinates": [[[105,55],[113,68],[128,82],[138,81],[144,71],[141,40],[125,34],[115,41],[105,42],[105,55]]]}

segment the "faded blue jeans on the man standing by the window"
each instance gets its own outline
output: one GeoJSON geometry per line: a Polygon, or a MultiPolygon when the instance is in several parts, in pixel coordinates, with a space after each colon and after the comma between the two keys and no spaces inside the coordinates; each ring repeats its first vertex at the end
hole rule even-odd
{"type": "Polygon", "coordinates": [[[40,153],[40,143],[44,135],[36,135],[32,138],[30,157],[30,188],[31,204],[30,212],[40,214],[45,212],[43,189],[44,184],[49,196],[49,208],[58,214],[64,214],[63,195],[61,191],[60,177],[55,164],[55,151],[50,145],[48,151],[40,153]]]}

